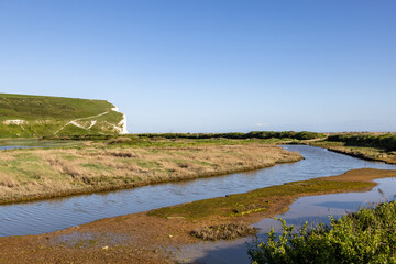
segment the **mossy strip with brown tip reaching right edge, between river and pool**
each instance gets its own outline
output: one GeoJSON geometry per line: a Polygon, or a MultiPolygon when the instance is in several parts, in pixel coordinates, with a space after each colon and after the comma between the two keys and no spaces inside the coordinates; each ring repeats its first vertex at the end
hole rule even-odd
{"type": "Polygon", "coordinates": [[[150,216],[161,218],[183,217],[188,220],[210,219],[216,217],[240,217],[253,212],[263,212],[285,204],[282,210],[293,199],[308,195],[334,194],[348,191],[363,191],[376,184],[374,178],[396,176],[396,170],[352,169],[340,176],[315,178],[293,182],[284,185],[255,189],[244,194],[229,195],[166,207],[148,212],[150,216]]]}

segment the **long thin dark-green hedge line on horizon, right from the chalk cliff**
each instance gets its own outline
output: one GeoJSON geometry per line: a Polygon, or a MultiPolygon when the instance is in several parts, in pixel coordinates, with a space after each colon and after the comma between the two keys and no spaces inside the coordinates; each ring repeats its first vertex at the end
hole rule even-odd
{"type": "MultiPolygon", "coordinates": [[[[75,141],[98,141],[98,140],[110,140],[116,135],[108,134],[87,134],[87,135],[67,135],[51,138],[46,136],[46,140],[75,140],[75,141]]],[[[117,135],[125,138],[163,138],[163,139],[193,139],[193,140],[205,140],[205,139],[230,139],[230,140],[246,140],[246,139],[293,139],[293,140],[312,140],[318,138],[326,138],[324,134],[315,132],[295,132],[295,131],[252,131],[249,133],[231,132],[231,133],[143,133],[143,134],[125,134],[117,135]]]]}

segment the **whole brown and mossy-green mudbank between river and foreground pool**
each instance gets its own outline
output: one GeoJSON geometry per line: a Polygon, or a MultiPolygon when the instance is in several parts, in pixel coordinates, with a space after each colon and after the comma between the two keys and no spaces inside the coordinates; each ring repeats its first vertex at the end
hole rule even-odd
{"type": "Polygon", "coordinates": [[[298,197],[364,191],[376,185],[373,179],[385,177],[396,177],[396,170],[353,169],[339,176],[102,219],[47,234],[0,238],[0,262],[174,263],[169,249],[200,241],[189,235],[191,230],[230,222],[253,223],[286,211],[298,197]],[[230,213],[234,202],[257,205],[258,200],[265,205],[263,210],[230,213]]]}

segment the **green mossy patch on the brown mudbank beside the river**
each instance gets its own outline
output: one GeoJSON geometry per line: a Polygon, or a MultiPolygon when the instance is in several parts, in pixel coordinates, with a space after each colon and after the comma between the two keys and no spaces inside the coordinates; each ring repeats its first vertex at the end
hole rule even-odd
{"type": "Polygon", "coordinates": [[[272,186],[244,194],[229,195],[213,199],[198,200],[175,207],[166,207],[150,212],[161,218],[184,217],[189,220],[210,219],[212,217],[238,217],[253,212],[265,212],[278,199],[300,195],[353,191],[374,186],[366,182],[337,182],[311,179],[272,186]]]}

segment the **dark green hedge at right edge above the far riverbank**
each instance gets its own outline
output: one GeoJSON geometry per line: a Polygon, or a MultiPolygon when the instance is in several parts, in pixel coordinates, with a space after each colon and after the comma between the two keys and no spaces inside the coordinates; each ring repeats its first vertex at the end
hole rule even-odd
{"type": "Polygon", "coordinates": [[[383,135],[353,135],[353,134],[334,134],[329,135],[328,141],[344,142],[350,146],[371,146],[381,147],[387,151],[396,151],[396,135],[383,134],[383,135]]]}

